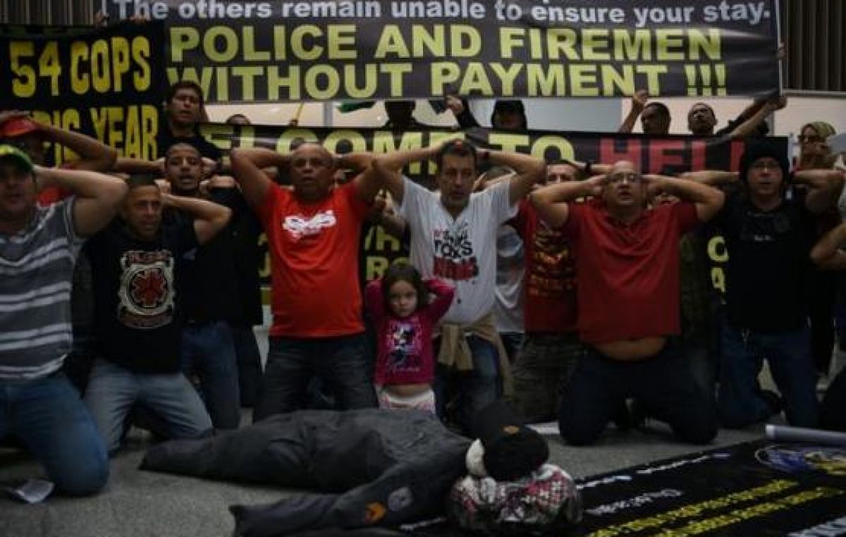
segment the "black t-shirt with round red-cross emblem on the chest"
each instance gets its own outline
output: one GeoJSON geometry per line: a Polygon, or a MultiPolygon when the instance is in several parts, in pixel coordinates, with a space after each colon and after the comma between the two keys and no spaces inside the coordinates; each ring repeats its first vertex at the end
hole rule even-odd
{"type": "Polygon", "coordinates": [[[149,242],[132,238],[118,221],[91,238],[98,355],[138,373],[179,371],[177,260],[196,245],[193,225],[181,218],[149,242]]]}

